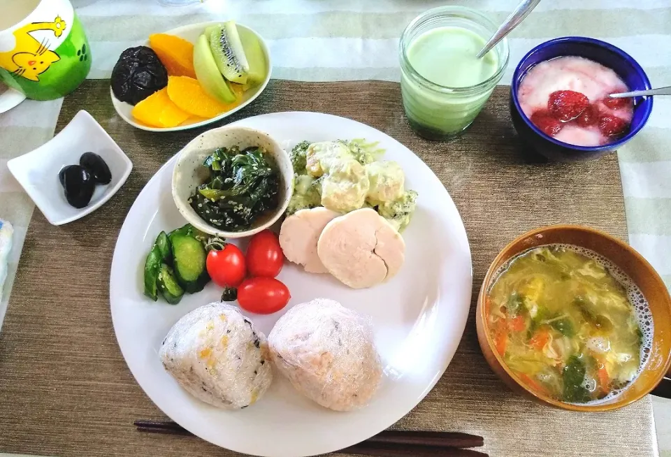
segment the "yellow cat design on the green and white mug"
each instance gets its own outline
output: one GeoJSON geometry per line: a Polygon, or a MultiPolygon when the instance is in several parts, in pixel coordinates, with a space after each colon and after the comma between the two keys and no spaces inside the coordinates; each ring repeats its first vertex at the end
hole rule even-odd
{"type": "Polygon", "coordinates": [[[51,64],[61,58],[56,52],[49,50],[47,39],[39,42],[31,35],[31,32],[49,30],[54,32],[56,38],[59,38],[65,29],[65,21],[57,16],[53,22],[33,22],[15,30],[16,45],[9,52],[0,52],[0,66],[27,80],[39,81],[38,75],[47,71],[51,64]]]}

